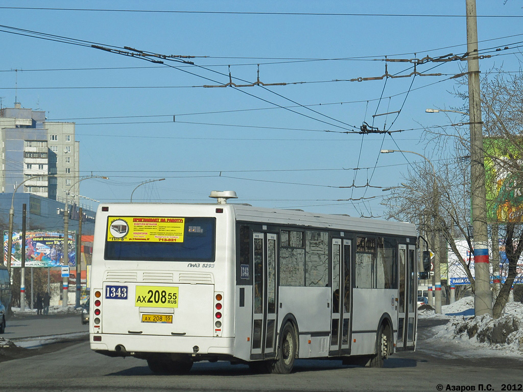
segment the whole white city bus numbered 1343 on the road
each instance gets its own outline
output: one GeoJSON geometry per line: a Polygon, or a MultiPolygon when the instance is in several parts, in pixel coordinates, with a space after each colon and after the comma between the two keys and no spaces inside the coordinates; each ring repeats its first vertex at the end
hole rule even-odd
{"type": "Polygon", "coordinates": [[[272,373],[297,358],[380,367],[415,349],[414,225],[211,197],[100,204],[91,349],[158,374],[203,360],[272,373]]]}

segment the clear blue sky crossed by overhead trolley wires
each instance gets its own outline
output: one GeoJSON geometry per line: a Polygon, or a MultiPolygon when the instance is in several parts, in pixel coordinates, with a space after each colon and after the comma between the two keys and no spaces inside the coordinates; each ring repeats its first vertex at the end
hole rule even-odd
{"type": "MultiPolygon", "coordinates": [[[[523,2],[504,3],[477,0],[479,48],[495,55],[481,60],[483,72],[518,71],[523,60],[523,2]]],[[[380,155],[380,149],[415,151],[437,165],[433,146],[420,141],[421,126],[462,121],[425,109],[464,104],[449,93],[456,86],[449,78],[465,62],[417,67],[441,76],[347,80],[382,76],[385,56],[464,53],[465,0],[12,0],[0,7],[3,26],[88,41],[68,44],[0,28],[0,97],[4,107],[13,107],[16,94],[22,107],[76,123],[81,175],[110,177],[82,182],[81,194],[104,202],[129,201],[140,182],[166,178],[140,187],[133,200],[208,202],[211,190],[234,190],[238,202],[253,205],[380,216],[385,192],[377,187],[399,185],[408,162],[421,159],[380,155]],[[90,43],[197,57],[190,59],[195,65],[166,66],[90,43]],[[257,64],[261,82],[287,85],[201,87],[228,83],[228,65],[234,83],[253,83],[257,64]],[[343,133],[358,131],[364,121],[406,131],[343,133]],[[358,188],[340,188],[352,185],[358,188]],[[351,198],[366,199],[337,201],[351,198]]],[[[388,63],[391,75],[413,71],[410,63],[388,63]]]]}

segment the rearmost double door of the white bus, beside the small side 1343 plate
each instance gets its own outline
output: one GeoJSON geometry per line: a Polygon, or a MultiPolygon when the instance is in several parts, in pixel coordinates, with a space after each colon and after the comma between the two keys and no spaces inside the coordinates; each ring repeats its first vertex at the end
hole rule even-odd
{"type": "Polygon", "coordinates": [[[276,234],[253,233],[252,359],[276,357],[276,234]]]}

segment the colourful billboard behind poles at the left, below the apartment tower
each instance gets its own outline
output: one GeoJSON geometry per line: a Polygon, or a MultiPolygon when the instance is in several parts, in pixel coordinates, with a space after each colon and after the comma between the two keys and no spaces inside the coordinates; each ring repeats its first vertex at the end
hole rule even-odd
{"type": "MultiPolygon", "coordinates": [[[[4,264],[7,262],[7,243],[9,234],[4,232],[4,264]]],[[[68,255],[69,266],[76,267],[76,235],[69,232],[68,255]]],[[[26,232],[26,267],[59,267],[63,262],[63,233],[58,232],[26,232]]],[[[11,267],[21,267],[22,232],[13,232],[11,247],[11,267]]]]}

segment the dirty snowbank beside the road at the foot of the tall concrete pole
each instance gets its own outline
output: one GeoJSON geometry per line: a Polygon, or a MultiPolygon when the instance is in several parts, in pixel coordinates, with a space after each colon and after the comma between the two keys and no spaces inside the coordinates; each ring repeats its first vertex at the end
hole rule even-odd
{"type": "Polygon", "coordinates": [[[448,319],[447,324],[433,327],[429,341],[452,344],[457,351],[474,356],[508,355],[523,358],[523,304],[507,303],[505,315],[495,320],[474,316],[474,297],[459,299],[442,306],[441,314],[420,310],[418,318],[448,319]]]}

